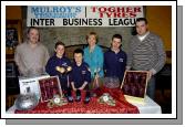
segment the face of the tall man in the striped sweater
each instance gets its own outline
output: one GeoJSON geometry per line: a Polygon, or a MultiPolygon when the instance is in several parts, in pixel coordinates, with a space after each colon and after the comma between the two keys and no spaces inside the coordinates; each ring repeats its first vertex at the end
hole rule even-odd
{"type": "Polygon", "coordinates": [[[138,35],[144,35],[147,32],[147,24],[145,21],[136,22],[136,32],[138,35]]]}

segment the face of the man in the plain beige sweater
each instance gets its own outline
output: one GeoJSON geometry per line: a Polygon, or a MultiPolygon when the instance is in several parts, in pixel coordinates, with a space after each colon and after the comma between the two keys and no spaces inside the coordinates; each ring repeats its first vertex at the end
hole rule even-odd
{"type": "Polygon", "coordinates": [[[31,42],[32,44],[35,44],[39,42],[39,30],[38,29],[30,29],[28,32],[28,39],[29,42],[31,42]]]}

